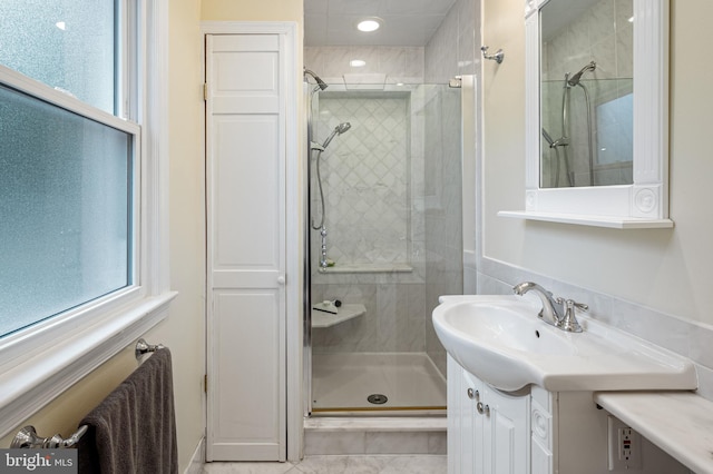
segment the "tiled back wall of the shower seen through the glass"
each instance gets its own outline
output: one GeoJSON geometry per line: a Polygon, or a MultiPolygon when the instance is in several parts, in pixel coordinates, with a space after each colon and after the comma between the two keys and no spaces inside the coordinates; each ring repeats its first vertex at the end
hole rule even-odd
{"type": "MultiPolygon", "coordinates": [[[[336,261],[335,268],[408,264],[413,270],[321,274],[313,264],[313,300],[338,298],[367,308],[363,317],[315,329],[315,353],[424,350],[423,215],[414,197],[414,188],[423,188],[422,171],[419,174],[423,134],[413,130],[419,127],[411,112],[418,101],[414,96],[418,93],[320,96],[314,127],[318,141],[336,124],[352,124],[321,158],[329,257],[336,261]]],[[[312,189],[312,209],[319,213],[314,181],[312,189]]],[[[320,240],[313,233],[316,263],[320,240]]]]}

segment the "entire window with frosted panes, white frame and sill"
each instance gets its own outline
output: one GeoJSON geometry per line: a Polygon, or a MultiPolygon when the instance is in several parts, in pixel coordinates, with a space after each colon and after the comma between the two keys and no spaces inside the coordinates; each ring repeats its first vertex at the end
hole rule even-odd
{"type": "Polygon", "coordinates": [[[167,0],[0,2],[0,435],[174,296],[166,13],[167,0]]]}

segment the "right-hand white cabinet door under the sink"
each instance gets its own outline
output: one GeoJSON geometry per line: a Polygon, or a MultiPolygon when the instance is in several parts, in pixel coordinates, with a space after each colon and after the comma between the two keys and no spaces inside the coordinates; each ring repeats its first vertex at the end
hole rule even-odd
{"type": "Polygon", "coordinates": [[[481,393],[484,405],[478,412],[485,423],[482,472],[529,473],[529,396],[507,394],[487,385],[481,393]]]}

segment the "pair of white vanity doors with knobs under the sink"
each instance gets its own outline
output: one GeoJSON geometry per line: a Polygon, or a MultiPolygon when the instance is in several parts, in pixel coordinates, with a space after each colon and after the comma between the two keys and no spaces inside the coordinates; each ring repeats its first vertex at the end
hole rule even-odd
{"type": "Polygon", "coordinates": [[[448,359],[448,472],[530,472],[530,396],[499,392],[448,359]]]}

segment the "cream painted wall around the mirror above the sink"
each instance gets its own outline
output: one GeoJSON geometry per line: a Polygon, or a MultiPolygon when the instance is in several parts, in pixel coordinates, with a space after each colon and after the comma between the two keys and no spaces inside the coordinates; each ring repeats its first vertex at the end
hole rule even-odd
{"type": "Polygon", "coordinates": [[[525,20],[521,0],[484,0],[484,255],[558,280],[713,324],[713,213],[704,179],[713,110],[710,0],[672,0],[671,218],[674,229],[613,230],[497,217],[524,207],[525,20]]]}

